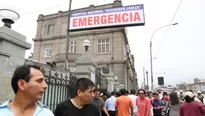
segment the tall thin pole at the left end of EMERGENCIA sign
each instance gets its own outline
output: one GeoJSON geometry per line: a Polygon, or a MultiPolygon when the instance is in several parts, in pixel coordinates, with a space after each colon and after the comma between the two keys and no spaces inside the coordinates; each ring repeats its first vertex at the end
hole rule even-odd
{"type": "Polygon", "coordinates": [[[68,49],[69,49],[69,38],[70,38],[70,13],[71,13],[71,5],[72,5],[72,0],[70,0],[69,3],[69,9],[68,9],[68,21],[67,21],[67,31],[66,31],[66,53],[65,53],[65,70],[68,70],[68,49]]]}

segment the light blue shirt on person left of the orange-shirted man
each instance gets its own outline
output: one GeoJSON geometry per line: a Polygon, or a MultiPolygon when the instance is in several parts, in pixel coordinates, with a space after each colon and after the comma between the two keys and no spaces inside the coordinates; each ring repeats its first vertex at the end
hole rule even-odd
{"type": "Polygon", "coordinates": [[[105,107],[107,108],[108,111],[115,111],[115,102],[116,102],[116,97],[111,96],[110,98],[107,99],[105,102],[105,107]]]}

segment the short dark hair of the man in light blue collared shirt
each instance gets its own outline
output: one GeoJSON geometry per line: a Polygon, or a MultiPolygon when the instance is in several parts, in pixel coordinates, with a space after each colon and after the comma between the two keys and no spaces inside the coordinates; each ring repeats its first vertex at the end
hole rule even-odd
{"type": "Polygon", "coordinates": [[[30,69],[31,68],[41,71],[40,67],[36,65],[21,65],[21,66],[18,66],[16,70],[14,71],[14,74],[11,79],[11,86],[15,94],[18,91],[19,87],[17,83],[20,79],[25,80],[26,82],[30,81],[30,69]]]}

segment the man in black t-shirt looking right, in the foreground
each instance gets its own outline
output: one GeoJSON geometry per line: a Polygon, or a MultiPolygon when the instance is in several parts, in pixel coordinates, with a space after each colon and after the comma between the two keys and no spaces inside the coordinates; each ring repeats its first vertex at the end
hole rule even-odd
{"type": "Polygon", "coordinates": [[[98,108],[91,104],[95,84],[88,78],[80,78],[76,83],[76,96],[59,103],[55,116],[100,116],[98,108]]]}

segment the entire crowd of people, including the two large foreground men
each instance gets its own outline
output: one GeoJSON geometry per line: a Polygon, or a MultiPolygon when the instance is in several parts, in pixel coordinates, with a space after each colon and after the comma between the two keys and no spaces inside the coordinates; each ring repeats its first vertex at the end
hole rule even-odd
{"type": "Polygon", "coordinates": [[[40,68],[19,66],[11,79],[13,100],[0,105],[0,116],[205,116],[203,95],[192,90],[146,92],[121,89],[111,94],[96,89],[88,78],[75,85],[75,97],[59,103],[54,111],[39,102],[47,89],[40,68]]]}

